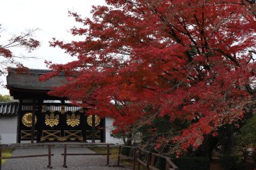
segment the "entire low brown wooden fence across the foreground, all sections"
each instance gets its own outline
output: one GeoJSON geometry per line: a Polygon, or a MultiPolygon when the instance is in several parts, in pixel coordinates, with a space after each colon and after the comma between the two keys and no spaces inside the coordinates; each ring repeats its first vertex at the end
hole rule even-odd
{"type": "MultiPolygon", "coordinates": [[[[16,157],[1,157],[2,153],[2,147],[0,146],[0,170],[1,170],[1,160],[2,159],[26,159],[26,158],[32,158],[32,157],[48,157],[48,165],[47,168],[52,169],[51,165],[51,157],[54,156],[54,154],[51,153],[51,148],[53,146],[64,146],[64,153],[61,154],[63,155],[63,167],[67,168],[67,156],[77,156],[77,155],[105,155],[106,156],[106,165],[109,166],[109,156],[111,155],[110,153],[110,146],[114,144],[111,143],[42,143],[42,144],[13,144],[13,145],[7,145],[7,146],[2,146],[3,148],[30,148],[33,146],[46,146],[48,148],[48,154],[43,154],[43,155],[22,155],[22,156],[16,156],[16,157]],[[67,153],[67,146],[106,146],[106,153],[67,153]]],[[[126,158],[126,159],[131,159],[133,160],[133,170],[136,168],[137,164],[137,169],[140,170],[141,167],[145,167],[147,170],[159,170],[156,167],[156,160],[159,158],[162,158],[166,163],[165,163],[165,169],[166,170],[178,170],[178,167],[172,163],[171,159],[169,157],[164,157],[163,155],[159,155],[157,153],[151,153],[150,151],[143,150],[142,148],[137,148],[133,146],[119,146],[119,154],[117,155],[117,165],[114,166],[119,166],[121,158],[126,158]],[[129,148],[132,151],[132,156],[126,156],[122,154],[122,148],[129,148]]]]}

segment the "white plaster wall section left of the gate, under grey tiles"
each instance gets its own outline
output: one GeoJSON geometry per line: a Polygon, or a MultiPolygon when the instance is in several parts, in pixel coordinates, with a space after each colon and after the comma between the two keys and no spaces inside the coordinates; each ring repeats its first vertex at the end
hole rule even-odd
{"type": "Polygon", "coordinates": [[[17,142],[17,118],[18,116],[0,116],[0,143],[17,142]]]}

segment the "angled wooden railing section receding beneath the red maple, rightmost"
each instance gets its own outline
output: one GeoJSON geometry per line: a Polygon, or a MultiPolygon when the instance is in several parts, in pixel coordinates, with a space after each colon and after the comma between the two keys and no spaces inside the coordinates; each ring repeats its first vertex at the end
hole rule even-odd
{"type": "Polygon", "coordinates": [[[165,164],[165,169],[166,170],[178,170],[179,168],[172,162],[172,160],[169,157],[165,157],[163,155],[159,155],[157,153],[151,153],[150,151],[143,150],[142,148],[137,148],[133,146],[119,146],[119,154],[117,155],[117,165],[119,166],[121,162],[121,158],[126,158],[126,159],[131,159],[133,160],[133,170],[136,169],[136,164],[137,164],[137,169],[140,170],[141,166],[146,167],[147,170],[159,170],[156,167],[156,158],[162,158],[166,161],[165,164]],[[122,154],[122,149],[123,148],[130,148],[132,150],[133,156],[127,156],[122,154]],[[146,156],[144,159],[142,159],[142,153],[145,153],[144,155],[146,156]]]}

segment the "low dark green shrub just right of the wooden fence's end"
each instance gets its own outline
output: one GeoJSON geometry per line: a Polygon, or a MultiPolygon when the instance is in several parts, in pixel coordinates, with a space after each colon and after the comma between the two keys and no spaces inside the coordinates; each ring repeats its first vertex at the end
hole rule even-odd
{"type": "Polygon", "coordinates": [[[183,156],[173,162],[179,170],[210,170],[210,159],[205,157],[183,156]]]}

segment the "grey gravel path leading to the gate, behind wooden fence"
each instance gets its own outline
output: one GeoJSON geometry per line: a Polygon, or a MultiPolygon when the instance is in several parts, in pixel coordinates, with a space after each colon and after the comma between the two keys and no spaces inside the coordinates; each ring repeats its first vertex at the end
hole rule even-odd
{"type": "MultiPolygon", "coordinates": [[[[52,148],[53,169],[89,169],[89,170],[128,170],[122,167],[106,167],[106,157],[104,156],[67,156],[67,168],[63,168],[63,148],[52,148]]],[[[47,148],[20,148],[13,151],[12,156],[48,154],[47,148]]],[[[67,148],[67,153],[94,153],[88,148],[67,148]]],[[[110,165],[117,164],[110,159],[110,165]]],[[[47,169],[48,157],[36,157],[26,159],[7,159],[2,170],[37,170],[47,169]]]]}

